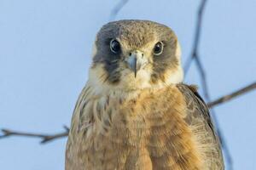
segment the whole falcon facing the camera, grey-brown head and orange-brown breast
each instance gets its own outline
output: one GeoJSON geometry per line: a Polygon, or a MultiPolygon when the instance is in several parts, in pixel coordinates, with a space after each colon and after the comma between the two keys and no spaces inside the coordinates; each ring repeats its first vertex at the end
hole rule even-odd
{"type": "Polygon", "coordinates": [[[195,85],[183,83],[168,26],[102,26],[73,111],[66,170],[223,170],[218,133],[195,85]]]}

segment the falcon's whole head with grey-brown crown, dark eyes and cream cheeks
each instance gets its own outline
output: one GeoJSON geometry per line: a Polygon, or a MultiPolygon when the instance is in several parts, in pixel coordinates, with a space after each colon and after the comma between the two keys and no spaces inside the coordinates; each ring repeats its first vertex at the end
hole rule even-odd
{"type": "Polygon", "coordinates": [[[169,27],[148,20],[119,20],[97,33],[92,86],[129,91],[182,81],[180,48],[169,27]]]}

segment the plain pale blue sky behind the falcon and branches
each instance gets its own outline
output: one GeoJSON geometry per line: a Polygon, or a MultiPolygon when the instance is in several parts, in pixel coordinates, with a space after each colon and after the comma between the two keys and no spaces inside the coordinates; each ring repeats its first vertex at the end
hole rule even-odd
{"type": "MultiPolygon", "coordinates": [[[[87,80],[96,31],[118,0],[0,0],[0,128],[58,133],[87,80]]],[[[130,0],[116,20],[154,20],[191,51],[198,0],[130,0]]],[[[212,99],[256,80],[256,1],[209,0],[200,54],[212,99]]],[[[193,66],[185,82],[199,83],[193,66]]],[[[256,91],[216,107],[236,170],[256,169],[256,91]]],[[[3,170],[64,169],[67,139],[0,140],[3,170]]]]}

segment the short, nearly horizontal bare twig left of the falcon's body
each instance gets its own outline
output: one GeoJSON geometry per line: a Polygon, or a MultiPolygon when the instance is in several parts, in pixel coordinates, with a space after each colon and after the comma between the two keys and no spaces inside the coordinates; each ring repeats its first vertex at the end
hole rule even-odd
{"type": "Polygon", "coordinates": [[[55,133],[55,134],[24,133],[24,132],[12,131],[9,129],[2,129],[3,135],[0,136],[0,139],[7,138],[10,136],[23,136],[23,137],[39,138],[41,139],[41,144],[45,144],[49,141],[66,137],[68,135],[68,132],[69,132],[69,128],[66,126],[64,126],[64,132],[55,133]]]}

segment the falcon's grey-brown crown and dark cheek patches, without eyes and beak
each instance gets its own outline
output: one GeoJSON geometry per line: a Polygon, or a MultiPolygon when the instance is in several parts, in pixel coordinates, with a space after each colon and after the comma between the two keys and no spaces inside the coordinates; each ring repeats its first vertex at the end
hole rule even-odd
{"type": "Polygon", "coordinates": [[[131,50],[143,48],[155,40],[164,42],[164,51],[154,56],[153,48],[148,48],[152,50],[148,57],[153,59],[151,82],[165,82],[165,72],[174,69],[178,62],[175,56],[177,37],[169,27],[152,21],[123,20],[103,26],[96,38],[97,51],[93,61],[103,63],[108,74],[106,82],[116,84],[120,81],[120,71],[125,69],[119,68],[119,63],[123,62],[131,50]],[[112,39],[121,44],[119,54],[114,54],[109,48],[112,39]]]}

